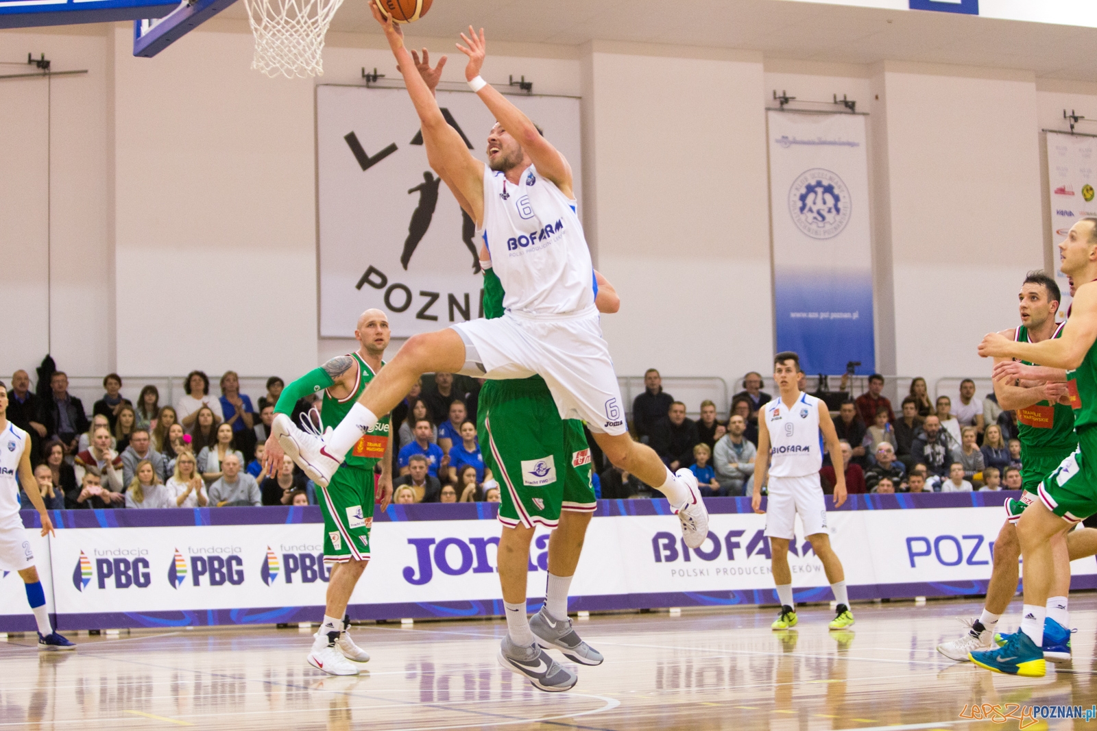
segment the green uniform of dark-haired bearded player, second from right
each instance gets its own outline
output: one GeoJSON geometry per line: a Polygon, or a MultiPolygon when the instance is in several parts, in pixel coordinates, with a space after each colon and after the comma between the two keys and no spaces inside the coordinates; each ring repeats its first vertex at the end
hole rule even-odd
{"type": "MultiPolygon", "coordinates": [[[[1063,334],[1060,323],[1052,338],[1063,334]]],[[[1031,342],[1028,328],[1020,325],[1014,334],[1019,343],[1031,342]]],[[[1025,365],[1033,365],[1022,361],[1025,365]]],[[[1006,501],[1006,517],[1010,523],[1020,519],[1021,513],[1037,498],[1037,490],[1048,477],[1074,452],[1078,437],[1074,433],[1074,410],[1063,403],[1040,401],[1017,410],[1017,438],[1021,443],[1021,493],[1020,500],[1006,501]]]]}

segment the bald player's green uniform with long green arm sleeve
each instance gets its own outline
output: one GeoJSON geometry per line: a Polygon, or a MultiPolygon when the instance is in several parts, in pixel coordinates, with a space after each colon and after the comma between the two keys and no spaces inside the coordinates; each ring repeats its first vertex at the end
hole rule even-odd
{"type": "MultiPolygon", "coordinates": [[[[316,368],[286,386],[274,408],[275,413],[291,414],[298,398],[323,388],[324,408],[320,413],[320,425],[321,429],[335,427],[376,375],[358,353],[351,353],[350,357],[358,364],[358,382],[346,399],[336,399],[331,396],[329,388],[335,381],[323,368],[316,368]]],[[[351,559],[361,561],[370,558],[373,476],[377,462],[385,457],[391,435],[388,414],[385,414],[347,453],[342,465],[331,476],[328,487],[316,486],[320,512],[324,513],[324,532],[327,534],[324,537],[325,562],[343,562],[351,559]]]]}

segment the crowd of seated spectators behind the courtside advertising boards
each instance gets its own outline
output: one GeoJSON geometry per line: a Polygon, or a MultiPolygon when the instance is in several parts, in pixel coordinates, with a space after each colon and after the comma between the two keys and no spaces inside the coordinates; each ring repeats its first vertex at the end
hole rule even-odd
{"type": "MultiPolygon", "coordinates": [[[[30,376],[16,372],[7,415],[31,434],[35,480],[50,510],[317,503],[316,486],[289,457],[274,476],[261,473],[281,378],[267,381],[257,412],[231,370],[220,377],[219,396],[211,393],[206,374],[194,370],[174,404],[160,404],[156,386],[145,386],[136,406],[122,396],[122,378],[110,374],[90,418],[69,393],[65,373],[47,373],[43,381],[34,391],[30,376]]],[[[393,410],[394,502],[499,501],[499,484],[477,441],[480,386],[436,374],[393,410]]],[[[688,418],[687,406],[663,390],[655,369],[644,375],[644,387],[633,401],[633,437],[671,470],[690,468],[705,495],[750,494],[758,412],[773,398],[762,390],[761,375],[746,374],[723,420],[708,400],[697,421],[688,418]]],[[[925,379],[915,378],[896,415],[883,387],[882,376],[871,376],[868,390],[840,403],[834,420],[849,493],[1019,488],[1013,414],[997,407],[993,393],[976,400],[974,382],[964,380],[953,407],[948,396],[931,400],[925,379]]],[[[298,401],[293,419],[315,420],[313,410],[323,410],[323,393],[298,401]]],[[[635,476],[603,462],[589,433],[588,443],[599,498],[652,496],[635,476]]],[[[824,491],[833,492],[828,456],[821,477],[824,491]]]]}

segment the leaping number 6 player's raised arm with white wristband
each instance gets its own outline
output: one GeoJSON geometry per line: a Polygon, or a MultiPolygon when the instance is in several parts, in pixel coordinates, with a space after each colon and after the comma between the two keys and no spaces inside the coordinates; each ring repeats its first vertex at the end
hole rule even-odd
{"type": "MultiPolygon", "coordinates": [[[[480,28],[477,35],[473,26],[470,25],[468,35],[462,33],[461,39],[465,42],[465,45],[462,46],[459,43],[457,49],[468,57],[468,64],[465,66],[465,80],[472,81],[479,76],[480,67],[484,66],[484,57],[487,54],[484,28],[480,28]]],[[[518,140],[518,144],[530,156],[530,160],[533,160],[538,172],[555,183],[564,195],[574,198],[572,165],[547,139],[541,136],[530,118],[490,84],[476,92],[476,95],[495,115],[496,122],[518,140]]]]}

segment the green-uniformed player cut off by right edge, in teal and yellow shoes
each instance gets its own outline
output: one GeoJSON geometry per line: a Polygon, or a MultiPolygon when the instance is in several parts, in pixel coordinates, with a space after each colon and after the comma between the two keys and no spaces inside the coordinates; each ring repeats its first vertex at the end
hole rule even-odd
{"type": "MultiPolygon", "coordinates": [[[[1037,488],[1040,500],[1025,509],[1017,522],[1025,564],[1025,606],[1020,631],[996,650],[974,651],[971,660],[999,673],[1043,676],[1044,624],[1055,585],[1054,538],[1097,513],[1097,218],[1083,218],[1059,244],[1062,271],[1077,284],[1077,293],[1059,338],[1039,343],[1009,340],[989,333],[979,345],[983,357],[1017,358],[1051,368],[1074,370],[1081,406],[1075,415],[1078,446],[1037,488]]],[[[995,367],[998,377],[999,367],[995,367]]]]}

